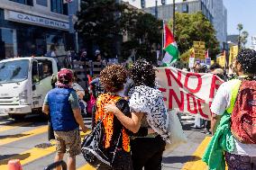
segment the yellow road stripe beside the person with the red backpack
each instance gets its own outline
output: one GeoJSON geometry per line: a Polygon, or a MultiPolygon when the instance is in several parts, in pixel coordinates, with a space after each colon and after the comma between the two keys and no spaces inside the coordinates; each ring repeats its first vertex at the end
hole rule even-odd
{"type": "Polygon", "coordinates": [[[202,143],[199,145],[197,150],[193,153],[192,159],[187,162],[181,170],[207,170],[208,166],[206,166],[206,163],[202,161],[202,157],[204,155],[205,149],[210,142],[211,137],[206,137],[202,141],[202,143]]]}

